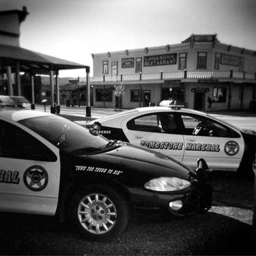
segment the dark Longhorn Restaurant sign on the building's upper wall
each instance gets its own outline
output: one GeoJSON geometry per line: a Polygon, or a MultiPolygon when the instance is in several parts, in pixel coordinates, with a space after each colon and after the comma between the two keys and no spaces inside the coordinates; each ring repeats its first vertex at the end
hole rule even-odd
{"type": "Polygon", "coordinates": [[[177,53],[144,56],[144,67],[174,65],[177,63],[177,53]]]}

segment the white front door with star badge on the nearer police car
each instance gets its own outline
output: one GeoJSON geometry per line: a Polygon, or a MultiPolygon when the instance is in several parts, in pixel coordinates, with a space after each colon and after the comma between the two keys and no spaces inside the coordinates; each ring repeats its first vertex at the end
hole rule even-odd
{"type": "Polygon", "coordinates": [[[53,215],[59,193],[59,150],[21,127],[0,120],[0,210],[53,215]]]}

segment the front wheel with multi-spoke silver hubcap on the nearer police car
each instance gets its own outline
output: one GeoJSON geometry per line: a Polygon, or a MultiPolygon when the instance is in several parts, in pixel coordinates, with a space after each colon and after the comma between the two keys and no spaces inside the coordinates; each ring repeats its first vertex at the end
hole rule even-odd
{"type": "Polygon", "coordinates": [[[126,229],[129,212],[128,201],[122,195],[109,186],[94,184],[74,195],[70,218],[87,240],[104,242],[126,229]]]}

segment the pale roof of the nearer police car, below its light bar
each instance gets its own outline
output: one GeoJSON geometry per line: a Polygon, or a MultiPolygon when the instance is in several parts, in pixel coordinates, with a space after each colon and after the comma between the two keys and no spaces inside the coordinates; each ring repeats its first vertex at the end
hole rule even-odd
{"type": "Polygon", "coordinates": [[[13,109],[13,108],[0,108],[0,118],[10,119],[13,121],[20,121],[22,119],[32,117],[42,117],[47,115],[53,115],[51,113],[45,113],[42,111],[28,110],[28,109],[13,109]]]}

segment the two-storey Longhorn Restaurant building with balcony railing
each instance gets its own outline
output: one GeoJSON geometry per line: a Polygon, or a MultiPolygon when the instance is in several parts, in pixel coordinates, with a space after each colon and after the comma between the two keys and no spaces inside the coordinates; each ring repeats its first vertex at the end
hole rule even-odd
{"type": "Polygon", "coordinates": [[[191,35],[180,44],[92,54],[94,106],[123,109],[184,102],[190,109],[248,109],[256,97],[256,51],[191,35]],[[117,97],[116,87],[124,94],[117,97]]]}

